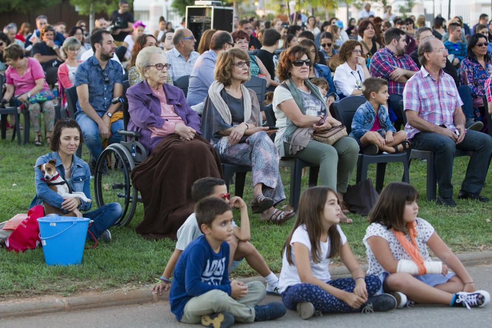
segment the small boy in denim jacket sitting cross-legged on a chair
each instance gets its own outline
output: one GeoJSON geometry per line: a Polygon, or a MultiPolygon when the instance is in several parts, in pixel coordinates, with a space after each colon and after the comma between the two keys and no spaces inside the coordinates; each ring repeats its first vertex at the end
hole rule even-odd
{"type": "Polygon", "coordinates": [[[378,77],[366,79],[362,84],[366,99],[352,119],[350,137],[357,140],[361,151],[367,155],[379,152],[395,153],[409,148],[405,131],[398,131],[391,125],[386,108],[389,98],[388,82],[378,77]]]}

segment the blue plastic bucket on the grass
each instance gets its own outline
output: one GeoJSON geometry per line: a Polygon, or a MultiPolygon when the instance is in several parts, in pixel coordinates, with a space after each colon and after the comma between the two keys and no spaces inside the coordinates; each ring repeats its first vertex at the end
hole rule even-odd
{"type": "Polygon", "coordinates": [[[80,264],[89,221],[85,217],[44,216],[37,219],[44,260],[49,266],[80,264]]]}

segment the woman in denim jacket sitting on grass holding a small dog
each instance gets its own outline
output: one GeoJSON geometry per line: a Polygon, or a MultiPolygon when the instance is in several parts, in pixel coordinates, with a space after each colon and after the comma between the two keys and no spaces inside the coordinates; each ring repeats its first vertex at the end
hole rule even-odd
{"type": "Polygon", "coordinates": [[[89,165],[75,155],[82,142],[82,131],[74,119],[63,119],[55,124],[50,152],[36,160],[35,183],[36,195],[31,202],[31,207],[42,203],[49,204],[61,212],[73,212],[75,215],[93,220],[89,230],[97,239],[102,237],[104,241],[111,240],[109,233],[112,227],[121,217],[123,210],[119,203],[106,204],[99,209],[81,214],[81,211],[91,209],[92,202],[84,202],[80,198],[63,198],[57,192],[48,187],[38,165],[56,160],[56,169],[60,177],[68,182],[73,191],[83,191],[87,198],[91,199],[91,171],[89,165]]]}

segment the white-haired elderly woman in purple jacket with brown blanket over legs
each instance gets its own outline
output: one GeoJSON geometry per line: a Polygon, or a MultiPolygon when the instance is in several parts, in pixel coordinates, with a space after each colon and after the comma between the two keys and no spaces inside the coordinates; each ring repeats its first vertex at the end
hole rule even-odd
{"type": "Polygon", "coordinates": [[[144,220],[136,227],[145,238],[175,238],[193,213],[191,185],[205,177],[220,178],[220,160],[203,139],[200,118],[181,89],[166,83],[169,64],[160,48],[142,49],[135,66],[143,81],[128,88],[128,130],[150,156],[133,169],[133,185],[144,203],[144,220]]]}

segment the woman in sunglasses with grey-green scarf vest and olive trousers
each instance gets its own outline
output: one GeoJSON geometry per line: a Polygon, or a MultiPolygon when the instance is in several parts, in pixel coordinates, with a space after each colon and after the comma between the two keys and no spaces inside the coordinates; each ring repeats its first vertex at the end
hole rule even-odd
{"type": "Polygon", "coordinates": [[[273,98],[279,128],[275,145],[280,157],[296,157],[319,165],[321,185],[337,190],[343,210],[340,221],[350,223],[352,220],[344,214],[347,210],[343,194],[357,163],[359,145],[350,137],[338,139],[333,146],[312,140],[313,132],[323,132],[341,123],[331,116],[319,89],[309,82],[310,67],[304,47],[291,47],[280,54],[277,76],[284,82],[275,89],[273,98]]]}

